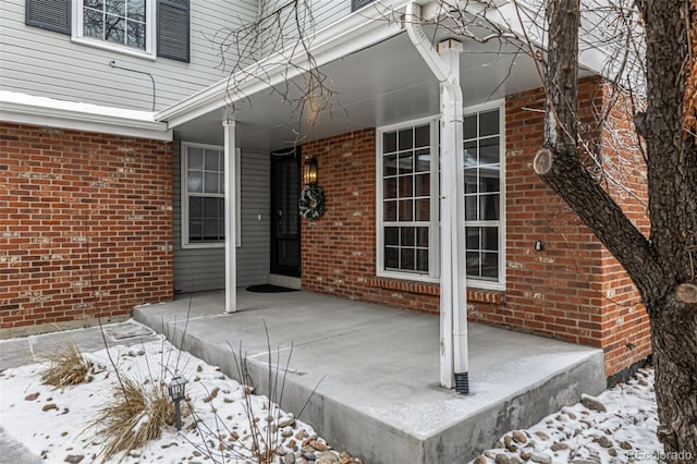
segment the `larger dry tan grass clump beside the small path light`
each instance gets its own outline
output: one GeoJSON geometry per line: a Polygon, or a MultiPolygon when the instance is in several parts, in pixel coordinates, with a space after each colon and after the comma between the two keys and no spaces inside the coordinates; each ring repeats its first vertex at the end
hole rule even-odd
{"type": "MultiPolygon", "coordinates": [[[[185,408],[185,403],[182,406],[185,408]]],[[[174,404],[167,387],[157,381],[140,383],[121,376],[121,382],[113,388],[113,398],[99,410],[88,427],[108,437],[101,451],[106,461],[160,438],[162,428],[173,425],[174,420],[174,404]]]]}

